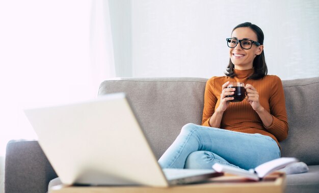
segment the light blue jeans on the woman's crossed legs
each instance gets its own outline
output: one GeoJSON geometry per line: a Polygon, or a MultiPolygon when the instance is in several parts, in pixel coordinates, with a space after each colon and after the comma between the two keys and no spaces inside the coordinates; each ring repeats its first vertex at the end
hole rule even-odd
{"type": "Polygon", "coordinates": [[[202,169],[221,163],[249,170],[279,157],[278,144],[269,136],[187,124],[158,163],[162,168],[202,169]]]}

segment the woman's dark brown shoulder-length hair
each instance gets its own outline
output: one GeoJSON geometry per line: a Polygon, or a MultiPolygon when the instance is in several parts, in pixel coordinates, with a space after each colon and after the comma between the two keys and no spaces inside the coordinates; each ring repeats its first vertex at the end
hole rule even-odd
{"type": "MultiPolygon", "coordinates": [[[[251,22],[245,22],[245,23],[241,23],[240,25],[236,26],[232,32],[237,29],[237,28],[243,28],[243,27],[248,27],[250,29],[252,29],[255,34],[257,35],[257,41],[263,45],[263,32],[262,30],[252,24],[251,22]]],[[[232,33],[231,32],[231,33],[232,33]]],[[[253,61],[253,68],[254,68],[254,73],[248,77],[248,79],[253,79],[253,80],[258,80],[263,78],[265,75],[267,75],[268,69],[267,69],[267,65],[266,65],[266,61],[264,59],[264,52],[262,50],[261,54],[257,55],[253,61]]],[[[231,62],[231,60],[229,59],[229,64],[226,68],[227,73],[225,73],[226,76],[228,77],[234,77],[236,76],[236,74],[234,73],[234,64],[231,62]]]]}

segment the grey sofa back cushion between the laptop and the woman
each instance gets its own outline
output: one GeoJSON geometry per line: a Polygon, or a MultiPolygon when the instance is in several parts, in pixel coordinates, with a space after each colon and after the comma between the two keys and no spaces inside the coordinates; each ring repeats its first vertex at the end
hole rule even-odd
{"type": "Polygon", "coordinates": [[[125,92],[159,158],[187,123],[201,124],[203,78],[121,78],[101,83],[99,95],[125,92]]]}

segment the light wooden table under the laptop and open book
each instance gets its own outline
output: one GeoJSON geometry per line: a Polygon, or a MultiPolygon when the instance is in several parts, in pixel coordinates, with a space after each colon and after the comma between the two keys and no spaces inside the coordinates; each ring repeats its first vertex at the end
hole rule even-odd
{"type": "Polygon", "coordinates": [[[102,192],[151,192],[151,193],[283,193],[286,186],[284,173],[276,173],[255,182],[242,177],[225,174],[221,177],[211,178],[205,183],[176,185],[171,187],[150,186],[53,186],[49,193],[102,193],[102,192]]]}

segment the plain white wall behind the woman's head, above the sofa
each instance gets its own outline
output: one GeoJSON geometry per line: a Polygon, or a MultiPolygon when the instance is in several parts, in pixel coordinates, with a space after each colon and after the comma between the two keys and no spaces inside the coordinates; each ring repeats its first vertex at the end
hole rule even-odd
{"type": "Polygon", "coordinates": [[[225,38],[245,21],[264,32],[269,74],[319,76],[317,0],[132,0],[132,76],[223,76],[225,38]]]}

